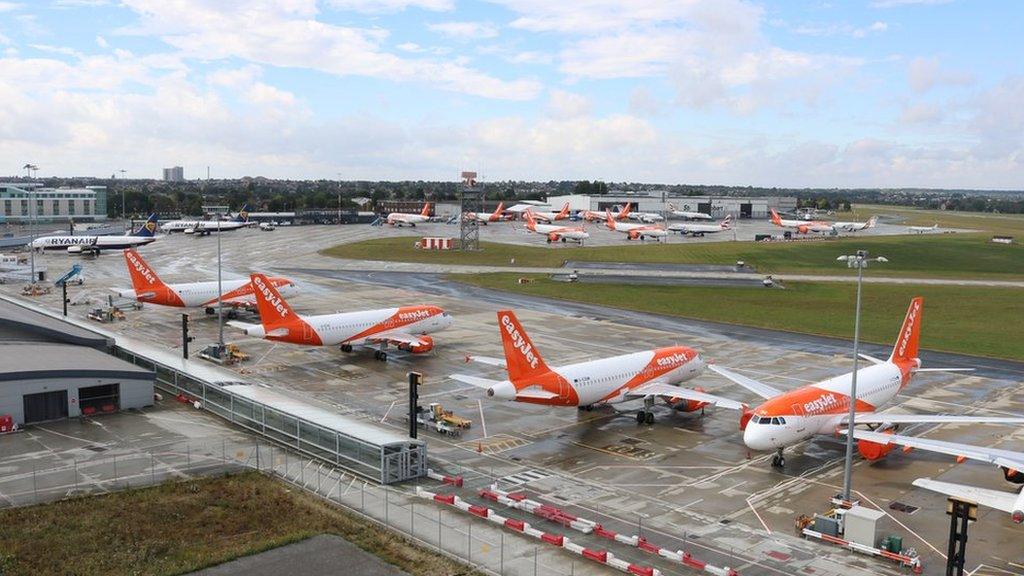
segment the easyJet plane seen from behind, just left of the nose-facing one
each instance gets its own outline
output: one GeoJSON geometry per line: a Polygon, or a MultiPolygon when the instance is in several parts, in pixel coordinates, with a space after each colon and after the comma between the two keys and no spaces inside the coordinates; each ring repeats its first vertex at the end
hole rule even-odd
{"type": "Polygon", "coordinates": [[[508,371],[507,380],[467,374],[453,374],[451,378],[486,389],[488,398],[529,404],[589,409],[643,399],[637,422],[648,424],[654,422],[651,408],[657,398],[684,412],[701,410],[709,404],[744,409],[738,402],[714,397],[700,388],[676,385],[703,370],[700,356],[687,346],[668,346],[549,368],[512,311],[498,313],[498,332],[505,349],[504,360],[470,356],[466,361],[504,368],[508,371]]]}

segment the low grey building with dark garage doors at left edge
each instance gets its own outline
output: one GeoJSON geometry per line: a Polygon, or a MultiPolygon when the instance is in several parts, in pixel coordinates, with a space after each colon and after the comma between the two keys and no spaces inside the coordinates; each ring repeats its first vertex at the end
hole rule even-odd
{"type": "Polygon", "coordinates": [[[90,330],[0,299],[0,417],[17,425],[152,406],[155,372],[90,330]]]}

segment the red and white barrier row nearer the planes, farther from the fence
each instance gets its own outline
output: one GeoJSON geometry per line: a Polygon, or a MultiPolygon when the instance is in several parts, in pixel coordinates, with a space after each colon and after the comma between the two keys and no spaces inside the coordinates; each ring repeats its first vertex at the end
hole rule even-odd
{"type": "MultiPolygon", "coordinates": [[[[641,538],[639,536],[618,534],[617,532],[605,529],[594,521],[579,518],[550,504],[538,502],[537,500],[530,500],[521,492],[506,492],[501,490],[498,488],[497,484],[490,485],[489,490],[480,490],[479,495],[482,498],[504,504],[511,508],[527,511],[534,516],[541,517],[544,520],[557,522],[562,526],[566,526],[585,534],[594,534],[602,538],[607,538],[608,540],[637,547],[645,552],[650,552],[662,558],[678,562],[694,570],[699,570],[708,574],[714,574],[715,576],[739,576],[738,573],[731,568],[711,566],[706,562],[701,562],[693,558],[689,552],[685,552],[683,550],[669,550],[655,546],[654,544],[648,542],[645,538],[641,538]]],[[[584,556],[587,554],[585,553],[584,556]]],[[[632,569],[627,571],[632,572],[633,574],[645,574],[642,572],[634,572],[632,569]]]]}

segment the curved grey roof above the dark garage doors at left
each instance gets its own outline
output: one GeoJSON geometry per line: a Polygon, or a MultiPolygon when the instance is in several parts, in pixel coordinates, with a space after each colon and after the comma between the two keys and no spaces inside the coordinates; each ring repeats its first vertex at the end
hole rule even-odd
{"type": "Polygon", "coordinates": [[[90,347],[49,342],[0,342],[0,381],[153,376],[152,370],[90,347]]]}

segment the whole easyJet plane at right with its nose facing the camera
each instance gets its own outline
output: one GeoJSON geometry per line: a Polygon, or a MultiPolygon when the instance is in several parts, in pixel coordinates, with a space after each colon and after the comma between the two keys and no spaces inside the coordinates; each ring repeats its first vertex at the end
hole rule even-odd
{"type": "MultiPolygon", "coordinates": [[[[899,424],[973,422],[987,424],[1024,423],[1024,418],[990,416],[953,416],[933,414],[895,414],[876,412],[881,406],[896,398],[910,378],[918,372],[948,372],[963,369],[922,368],[918,358],[918,342],[924,316],[924,298],[910,300],[903,325],[900,327],[888,360],[864,356],[871,366],[857,371],[856,424],[866,425],[869,433],[853,431],[858,439],[857,449],[868,460],[883,458],[892,450],[896,440],[893,433],[899,424]],[[882,439],[887,442],[883,444],[882,439]]],[[[768,384],[736,374],[725,368],[711,366],[711,370],[725,376],[765,399],[753,410],[744,410],[739,419],[743,443],[754,450],[775,450],[772,465],[785,464],[782,449],[803,442],[816,435],[847,434],[842,429],[849,423],[852,373],[828,378],[790,392],[776,389],[768,384]]],[[[915,442],[919,439],[913,439],[915,442]]],[[[916,445],[915,445],[916,446],[916,445]]],[[[920,448],[930,450],[927,443],[920,448]]],[[[965,451],[977,450],[962,446],[965,451]]],[[[937,451],[931,448],[933,451],[937,451]]],[[[1016,468],[1015,468],[1016,469],[1016,468]]]]}

